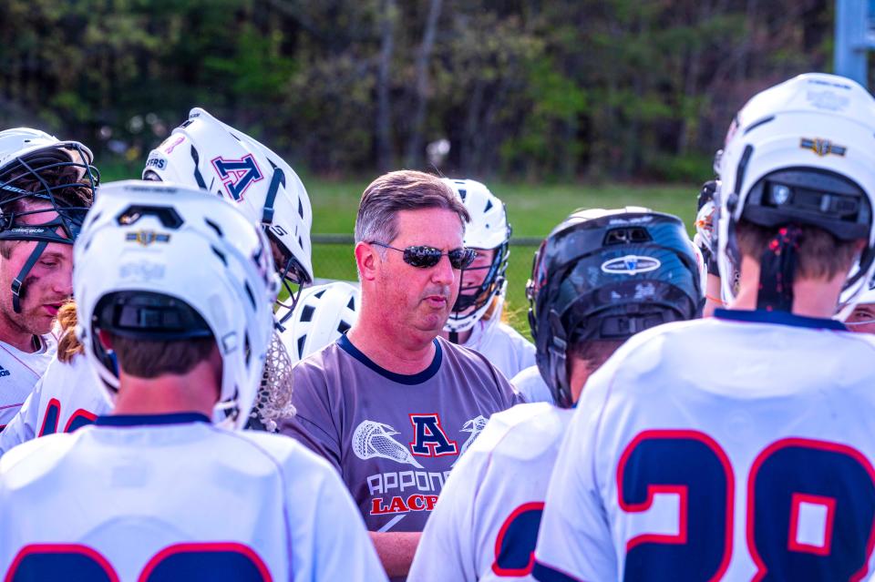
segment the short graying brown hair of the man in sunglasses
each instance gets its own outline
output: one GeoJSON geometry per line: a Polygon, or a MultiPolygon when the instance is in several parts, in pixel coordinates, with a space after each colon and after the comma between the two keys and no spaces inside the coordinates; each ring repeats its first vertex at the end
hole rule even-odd
{"type": "Polygon", "coordinates": [[[411,169],[384,174],[362,194],[355,218],[355,242],[388,244],[398,236],[399,211],[435,208],[452,210],[463,225],[471,220],[462,200],[437,176],[411,169]]]}

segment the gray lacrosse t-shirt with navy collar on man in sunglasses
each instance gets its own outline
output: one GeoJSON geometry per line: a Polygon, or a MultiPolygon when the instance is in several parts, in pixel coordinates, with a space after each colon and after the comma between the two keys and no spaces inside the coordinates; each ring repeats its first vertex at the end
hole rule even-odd
{"type": "Polygon", "coordinates": [[[442,338],[435,347],[425,371],[405,375],[342,336],[293,369],[297,424],[281,432],[322,445],[370,531],[422,531],[489,415],[521,402],[479,353],[442,338]]]}

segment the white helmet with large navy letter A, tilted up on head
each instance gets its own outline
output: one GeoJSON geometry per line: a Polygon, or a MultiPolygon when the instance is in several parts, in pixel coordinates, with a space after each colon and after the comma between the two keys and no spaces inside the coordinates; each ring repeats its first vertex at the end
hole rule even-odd
{"type": "Polygon", "coordinates": [[[291,284],[313,281],[310,229],[313,210],[304,184],[270,148],[194,107],[170,138],[149,152],[143,178],[209,190],[234,202],[280,243],[277,264],[292,304],[291,284]]]}

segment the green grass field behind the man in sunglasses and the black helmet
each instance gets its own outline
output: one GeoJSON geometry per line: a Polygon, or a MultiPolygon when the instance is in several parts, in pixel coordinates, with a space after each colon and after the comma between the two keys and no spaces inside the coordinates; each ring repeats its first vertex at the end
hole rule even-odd
{"type": "MultiPolygon", "coordinates": [[[[314,234],[352,235],[358,200],[365,181],[327,181],[304,178],[313,203],[314,234]]],[[[489,188],[503,199],[514,237],[542,239],[572,210],[578,208],[617,208],[645,206],[681,217],[688,230],[695,218],[695,185],[533,185],[490,183],[489,188]]],[[[691,230],[692,231],[692,230],[691,230]]],[[[534,246],[514,246],[508,266],[508,298],[505,312],[509,322],[529,337],[526,319],[528,301],[525,285],[531,271],[534,246]]],[[[324,279],[355,280],[352,246],[314,244],[314,272],[324,279]]]]}

